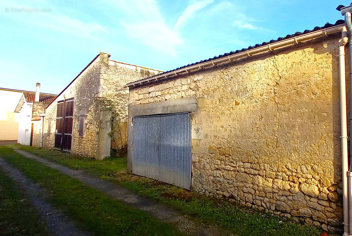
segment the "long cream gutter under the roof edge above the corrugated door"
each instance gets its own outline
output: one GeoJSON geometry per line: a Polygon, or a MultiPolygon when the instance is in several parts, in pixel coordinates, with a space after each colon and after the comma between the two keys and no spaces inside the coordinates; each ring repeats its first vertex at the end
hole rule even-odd
{"type": "Polygon", "coordinates": [[[272,51],[274,49],[283,48],[283,47],[291,46],[291,45],[294,45],[294,44],[298,44],[299,42],[312,40],[312,39],[323,37],[323,36],[328,36],[328,35],[340,32],[341,28],[343,26],[345,26],[345,25],[341,24],[341,25],[337,25],[337,26],[332,26],[330,28],[326,28],[326,29],[310,32],[308,34],[299,35],[299,36],[296,36],[296,37],[293,37],[293,38],[288,38],[286,40],[278,41],[278,42],[275,42],[275,43],[270,43],[270,44],[267,44],[265,46],[261,46],[261,47],[258,47],[258,48],[253,48],[253,49],[246,50],[244,52],[240,52],[240,53],[236,53],[236,54],[232,54],[232,55],[229,55],[229,56],[224,56],[222,58],[214,59],[214,60],[211,60],[211,61],[202,62],[202,63],[199,63],[197,65],[184,67],[184,68],[177,69],[175,71],[171,71],[171,72],[164,73],[164,74],[161,74],[161,75],[155,75],[155,76],[147,78],[147,79],[143,79],[143,80],[140,80],[140,81],[128,83],[128,84],[124,85],[124,87],[126,88],[126,87],[131,87],[131,86],[137,86],[137,85],[141,85],[143,83],[147,84],[147,83],[149,83],[151,81],[155,82],[157,80],[161,80],[161,79],[169,78],[169,77],[172,77],[172,76],[176,76],[176,75],[179,75],[181,73],[189,73],[192,70],[198,70],[198,69],[203,69],[203,68],[209,67],[209,66],[215,66],[215,65],[217,65],[219,63],[222,63],[222,62],[229,62],[229,61],[238,60],[238,59],[241,59],[241,58],[249,58],[250,56],[253,56],[254,54],[265,53],[265,52],[272,51]]]}

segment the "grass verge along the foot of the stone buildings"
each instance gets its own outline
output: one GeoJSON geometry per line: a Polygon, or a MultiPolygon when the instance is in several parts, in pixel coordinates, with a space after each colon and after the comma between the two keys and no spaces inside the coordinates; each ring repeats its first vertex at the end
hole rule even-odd
{"type": "Polygon", "coordinates": [[[236,202],[207,198],[149,178],[129,175],[126,173],[125,158],[94,161],[93,159],[36,149],[30,146],[14,145],[13,147],[71,168],[87,170],[97,177],[130,188],[137,193],[172,206],[183,213],[226,227],[240,236],[316,236],[321,232],[318,228],[300,225],[290,220],[241,206],[236,202]]]}

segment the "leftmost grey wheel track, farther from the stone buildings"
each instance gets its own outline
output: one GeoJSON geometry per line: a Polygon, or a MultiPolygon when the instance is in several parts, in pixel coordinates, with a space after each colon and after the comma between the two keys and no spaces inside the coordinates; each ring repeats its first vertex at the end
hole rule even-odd
{"type": "Polygon", "coordinates": [[[52,235],[58,236],[88,236],[87,232],[78,229],[71,220],[61,211],[52,207],[44,200],[45,190],[29,181],[21,171],[12,167],[10,164],[0,157],[0,168],[17,182],[21,189],[24,190],[33,206],[39,210],[40,219],[46,224],[46,229],[52,235]]]}

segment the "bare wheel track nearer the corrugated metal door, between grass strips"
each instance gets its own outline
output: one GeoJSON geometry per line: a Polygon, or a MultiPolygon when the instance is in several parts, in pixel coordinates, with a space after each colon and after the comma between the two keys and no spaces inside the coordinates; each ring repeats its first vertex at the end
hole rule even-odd
{"type": "Polygon", "coordinates": [[[218,226],[202,224],[194,218],[185,216],[184,214],[166,207],[154,200],[145,198],[134,193],[132,190],[113,184],[100,178],[89,175],[85,171],[75,170],[55,162],[48,161],[45,158],[32,155],[29,152],[15,150],[26,158],[34,159],[50,168],[56,169],[63,174],[69,175],[89,186],[98,189],[114,199],[122,201],[124,204],[148,212],[152,217],[166,223],[175,225],[180,231],[197,236],[227,236],[233,235],[229,231],[218,226]]]}

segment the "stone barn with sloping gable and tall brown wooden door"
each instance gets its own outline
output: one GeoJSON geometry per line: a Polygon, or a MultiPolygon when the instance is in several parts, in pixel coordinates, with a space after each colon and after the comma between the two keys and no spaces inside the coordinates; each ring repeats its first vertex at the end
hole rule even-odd
{"type": "Polygon", "coordinates": [[[45,148],[102,159],[110,156],[111,136],[113,145],[127,145],[128,89],[123,85],[161,71],[109,57],[99,53],[48,105],[45,148]]]}

